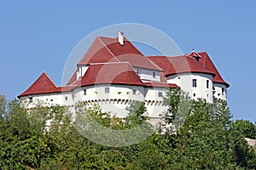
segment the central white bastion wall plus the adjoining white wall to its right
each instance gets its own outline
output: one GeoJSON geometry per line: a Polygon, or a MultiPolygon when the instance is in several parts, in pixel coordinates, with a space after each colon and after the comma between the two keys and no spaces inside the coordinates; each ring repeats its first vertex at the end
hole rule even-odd
{"type": "Polygon", "coordinates": [[[74,98],[75,102],[86,101],[88,106],[98,104],[103,111],[110,111],[112,115],[121,118],[127,116],[126,108],[133,101],[145,101],[148,116],[160,117],[160,114],[167,110],[167,106],[163,105],[163,97],[160,97],[159,93],[164,96],[167,90],[168,88],[102,84],[77,88],[74,90],[74,98]],[[109,88],[109,94],[105,93],[105,88],[109,88]],[[86,89],[85,95],[84,89],[86,89]],[[136,94],[133,94],[133,89],[136,90],[136,94]]]}

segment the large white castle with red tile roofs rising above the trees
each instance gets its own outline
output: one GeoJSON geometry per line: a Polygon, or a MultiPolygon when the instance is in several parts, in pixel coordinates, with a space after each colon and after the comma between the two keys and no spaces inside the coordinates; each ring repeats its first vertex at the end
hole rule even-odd
{"type": "Polygon", "coordinates": [[[64,87],[57,87],[44,72],[18,98],[31,108],[67,105],[79,101],[98,104],[120,118],[133,101],[142,101],[151,121],[166,111],[163,96],[181,88],[192,99],[227,99],[229,84],[220,76],[207,52],[180,56],[145,56],[119,31],[118,37],[96,37],[64,87]]]}

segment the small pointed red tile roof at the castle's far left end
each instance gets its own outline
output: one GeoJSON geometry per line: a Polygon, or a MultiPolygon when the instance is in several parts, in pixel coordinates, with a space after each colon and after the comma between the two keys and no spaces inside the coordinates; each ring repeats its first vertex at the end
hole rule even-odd
{"type": "Polygon", "coordinates": [[[54,82],[50,80],[49,76],[43,72],[36,82],[32,83],[32,86],[27,88],[24,93],[18,96],[18,98],[31,94],[51,94],[59,92],[61,92],[61,88],[57,88],[54,82]]]}

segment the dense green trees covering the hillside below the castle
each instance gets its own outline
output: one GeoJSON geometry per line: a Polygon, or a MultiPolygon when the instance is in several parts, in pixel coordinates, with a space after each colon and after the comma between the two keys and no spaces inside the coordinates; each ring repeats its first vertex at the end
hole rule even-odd
{"type": "Polygon", "coordinates": [[[255,124],[232,121],[225,101],[191,100],[179,89],[170,89],[164,101],[168,110],[153,131],[140,102],[127,108],[123,120],[81,102],[73,118],[64,106],[38,104],[28,110],[20,100],[0,95],[0,169],[256,169],[256,151],[245,140],[256,139],[255,124]],[[93,139],[109,140],[98,144],[78,128],[90,121],[84,117],[116,132],[137,129],[129,136],[134,141],[148,129],[148,138],[130,145],[121,136],[124,146],[117,147],[117,140],[105,138],[111,133],[89,126],[93,139]]]}

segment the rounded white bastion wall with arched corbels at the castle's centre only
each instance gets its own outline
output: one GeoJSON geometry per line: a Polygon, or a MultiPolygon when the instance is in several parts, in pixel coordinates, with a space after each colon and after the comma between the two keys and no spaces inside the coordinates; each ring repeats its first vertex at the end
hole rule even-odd
{"type": "Polygon", "coordinates": [[[88,106],[98,104],[103,111],[110,111],[112,115],[122,118],[127,116],[126,107],[130,106],[132,101],[144,101],[144,89],[141,86],[101,84],[77,88],[74,90],[74,97],[75,102],[86,101],[88,106]],[[105,88],[109,88],[109,93],[105,93],[105,88]],[[133,94],[133,89],[136,94],[133,94]]]}

